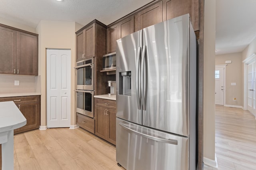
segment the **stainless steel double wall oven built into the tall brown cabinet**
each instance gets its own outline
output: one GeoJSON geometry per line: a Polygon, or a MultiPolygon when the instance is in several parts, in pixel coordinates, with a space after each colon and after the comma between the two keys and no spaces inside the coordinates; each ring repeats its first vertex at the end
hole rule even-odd
{"type": "Polygon", "coordinates": [[[94,57],[76,63],[77,85],[76,112],[94,117],[94,57]]]}

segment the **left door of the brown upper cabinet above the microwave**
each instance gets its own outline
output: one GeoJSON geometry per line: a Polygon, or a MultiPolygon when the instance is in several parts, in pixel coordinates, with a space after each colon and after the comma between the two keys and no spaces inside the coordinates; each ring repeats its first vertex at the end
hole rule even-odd
{"type": "Polygon", "coordinates": [[[119,37],[119,23],[108,27],[107,29],[107,53],[113,53],[116,51],[116,40],[119,37]]]}

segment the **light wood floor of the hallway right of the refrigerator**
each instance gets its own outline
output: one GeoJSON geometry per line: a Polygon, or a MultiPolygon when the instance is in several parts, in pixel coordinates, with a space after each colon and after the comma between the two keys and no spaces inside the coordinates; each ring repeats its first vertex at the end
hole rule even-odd
{"type": "Polygon", "coordinates": [[[216,106],[215,128],[218,170],[256,170],[255,117],[240,108],[216,106]]]}

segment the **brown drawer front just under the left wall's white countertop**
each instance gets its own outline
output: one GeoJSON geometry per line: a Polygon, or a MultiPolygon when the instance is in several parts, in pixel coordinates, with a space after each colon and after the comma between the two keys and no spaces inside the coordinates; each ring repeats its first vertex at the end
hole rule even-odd
{"type": "Polygon", "coordinates": [[[14,101],[15,104],[40,102],[40,96],[21,96],[0,98],[0,102],[14,101]]]}

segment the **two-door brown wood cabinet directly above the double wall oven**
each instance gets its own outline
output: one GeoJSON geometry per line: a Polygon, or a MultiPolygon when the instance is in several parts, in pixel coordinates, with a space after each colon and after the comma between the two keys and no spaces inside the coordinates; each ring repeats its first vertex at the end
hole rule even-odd
{"type": "Polygon", "coordinates": [[[76,61],[95,57],[95,23],[76,33],[76,61]]]}

